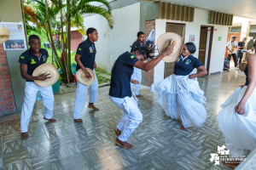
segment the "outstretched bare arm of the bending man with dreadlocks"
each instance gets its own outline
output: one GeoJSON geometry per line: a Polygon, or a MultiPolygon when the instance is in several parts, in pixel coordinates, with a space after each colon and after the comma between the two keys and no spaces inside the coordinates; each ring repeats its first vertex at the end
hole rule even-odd
{"type": "Polygon", "coordinates": [[[154,68],[155,65],[157,65],[161,59],[163,59],[166,55],[172,54],[172,50],[173,50],[174,45],[169,45],[166,50],[158,55],[157,58],[149,61],[148,63],[144,63],[141,60],[138,60],[133,66],[143,70],[143,71],[150,71],[151,69],[154,68]]]}

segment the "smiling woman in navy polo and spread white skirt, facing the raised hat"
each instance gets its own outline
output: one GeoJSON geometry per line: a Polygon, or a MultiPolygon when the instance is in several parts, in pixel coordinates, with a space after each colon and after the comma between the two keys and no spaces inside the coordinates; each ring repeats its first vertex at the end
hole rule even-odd
{"type": "Polygon", "coordinates": [[[193,42],[185,43],[182,54],[175,62],[174,74],[151,86],[152,92],[159,93],[158,101],[166,111],[166,116],[183,122],[181,130],[199,127],[207,119],[207,111],[203,106],[206,98],[197,82],[197,77],[207,75],[207,69],[199,59],[193,57],[195,51],[193,42]],[[195,68],[197,73],[193,74],[195,68]]]}

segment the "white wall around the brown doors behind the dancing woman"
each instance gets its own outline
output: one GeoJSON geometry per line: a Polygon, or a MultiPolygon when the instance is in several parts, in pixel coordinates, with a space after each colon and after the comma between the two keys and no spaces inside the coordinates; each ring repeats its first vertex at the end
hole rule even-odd
{"type": "MultiPolygon", "coordinates": [[[[204,9],[195,8],[195,19],[194,22],[183,22],[177,20],[160,20],[155,21],[155,38],[157,40],[161,34],[166,32],[166,23],[183,23],[185,24],[185,36],[184,42],[189,42],[189,35],[195,35],[195,46],[199,48],[200,42],[200,31],[201,26],[214,26],[215,31],[213,31],[212,37],[212,54],[210,62],[209,73],[222,72],[223,71],[223,62],[224,62],[224,53],[226,45],[226,37],[228,34],[229,26],[218,26],[218,25],[209,25],[207,24],[208,20],[208,11],[204,9]],[[222,37],[221,41],[218,41],[218,37],[222,37]]],[[[194,57],[198,58],[198,51],[193,54],[194,57]]],[[[154,82],[159,82],[164,79],[164,62],[160,61],[154,69],[154,82]]]]}

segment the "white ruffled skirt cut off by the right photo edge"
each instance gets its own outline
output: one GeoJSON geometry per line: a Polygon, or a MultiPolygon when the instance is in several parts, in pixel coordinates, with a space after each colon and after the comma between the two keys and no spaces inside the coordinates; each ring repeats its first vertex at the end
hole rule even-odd
{"type": "Polygon", "coordinates": [[[247,86],[236,88],[218,112],[218,127],[224,133],[230,155],[247,156],[256,148],[256,88],[244,106],[245,114],[235,114],[235,106],[241,101],[246,89],[247,86]]]}

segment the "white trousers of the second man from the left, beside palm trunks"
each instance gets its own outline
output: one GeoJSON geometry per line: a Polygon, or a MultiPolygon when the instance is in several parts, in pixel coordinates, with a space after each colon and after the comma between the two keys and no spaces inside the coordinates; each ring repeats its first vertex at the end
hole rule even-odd
{"type": "MultiPolygon", "coordinates": [[[[95,74],[95,73],[94,73],[95,74]]],[[[89,86],[85,86],[78,81],[78,86],[76,90],[76,98],[73,106],[73,118],[80,119],[84,112],[84,105],[87,97],[87,91],[89,86]]],[[[98,81],[95,74],[94,82],[90,85],[90,103],[94,103],[98,99],[98,81]]]]}

